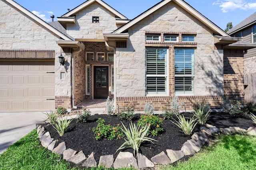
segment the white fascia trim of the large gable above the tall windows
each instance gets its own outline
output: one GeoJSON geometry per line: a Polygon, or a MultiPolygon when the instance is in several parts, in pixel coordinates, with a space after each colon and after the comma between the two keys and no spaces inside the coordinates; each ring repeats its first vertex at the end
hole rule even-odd
{"type": "Polygon", "coordinates": [[[153,6],[152,8],[146,10],[144,13],[140,14],[139,16],[137,16],[136,18],[134,18],[133,20],[128,22],[127,24],[125,24],[122,27],[116,29],[113,33],[123,33],[124,31],[126,31],[127,29],[129,29],[130,27],[132,27],[133,25],[138,23],[139,21],[143,20],[144,18],[146,18],[150,14],[156,12],[156,10],[162,8],[164,5],[168,4],[171,1],[174,2],[175,4],[177,4],[178,6],[180,6],[180,8],[182,8],[186,12],[188,12],[188,14],[192,15],[194,18],[196,18],[197,20],[204,23],[204,25],[209,27],[216,35],[230,37],[230,35],[228,35],[225,31],[223,31],[220,27],[218,27],[216,24],[214,24],[208,18],[203,16],[200,12],[195,10],[192,6],[190,6],[184,0],[162,0],[161,2],[159,2],[158,4],[153,6]]]}

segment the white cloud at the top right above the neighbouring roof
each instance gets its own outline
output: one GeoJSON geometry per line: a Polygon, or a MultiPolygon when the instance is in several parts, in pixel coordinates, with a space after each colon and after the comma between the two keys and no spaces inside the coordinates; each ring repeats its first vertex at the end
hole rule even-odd
{"type": "Polygon", "coordinates": [[[217,0],[213,5],[218,5],[222,12],[240,10],[256,10],[256,2],[247,2],[246,0],[217,0]]]}

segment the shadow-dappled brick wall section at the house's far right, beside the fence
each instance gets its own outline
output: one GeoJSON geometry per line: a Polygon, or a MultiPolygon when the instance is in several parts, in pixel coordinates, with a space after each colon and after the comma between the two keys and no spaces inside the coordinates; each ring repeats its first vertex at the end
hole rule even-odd
{"type": "Polygon", "coordinates": [[[224,95],[244,102],[243,50],[224,49],[224,95]]]}

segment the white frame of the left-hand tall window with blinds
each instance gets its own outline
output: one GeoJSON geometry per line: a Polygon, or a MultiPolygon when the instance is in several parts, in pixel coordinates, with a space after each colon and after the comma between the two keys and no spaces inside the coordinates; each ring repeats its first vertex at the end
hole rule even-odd
{"type": "MultiPolygon", "coordinates": [[[[147,47],[147,49],[166,49],[166,58],[165,58],[165,63],[166,63],[166,74],[147,74],[147,66],[146,66],[146,96],[168,96],[169,94],[169,49],[168,48],[161,48],[161,47],[147,47]],[[158,92],[155,92],[155,94],[148,94],[147,90],[147,77],[165,77],[165,88],[166,91],[164,94],[159,94],[158,92]]],[[[145,53],[147,54],[147,51],[145,50],[145,53]]],[[[146,55],[145,54],[145,55],[146,55]]],[[[145,56],[147,57],[147,56],[145,56]]],[[[147,59],[146,59],[146,64],[147,64],[147,59]]]]}

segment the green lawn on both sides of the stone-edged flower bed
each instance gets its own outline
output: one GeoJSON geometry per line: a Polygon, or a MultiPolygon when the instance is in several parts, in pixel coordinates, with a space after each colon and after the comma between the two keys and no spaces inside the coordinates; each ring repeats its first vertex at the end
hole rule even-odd
{"type": "MultiPolygon", "coordinates": [[[[256,169],[256,138],[248,136],[218,136],[216,143],[203,148],[185,162],[172,166],[157,166],[159,170],[254,170],[256,169]]],[[[0,170],[76,170],[39,145],[36,130],[0,154],[0,170]]],[[[106,168],[93,168],[103,170],[106,168]]],[[[130,168],[131,170],[132,168],[130,168]]]]}

